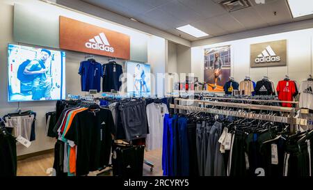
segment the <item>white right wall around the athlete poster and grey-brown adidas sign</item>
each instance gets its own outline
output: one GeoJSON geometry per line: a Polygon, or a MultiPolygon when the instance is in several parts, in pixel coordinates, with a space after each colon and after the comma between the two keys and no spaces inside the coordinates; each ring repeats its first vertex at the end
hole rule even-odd
{"type": "Polygon", "coordinates": [[[236,81],[243,80],[246,75],[253,81],[259,81],[263,76],[267,76],[276,86],[278,81],[288,74],[292,80],[298,81],[299,85],[300,81],[312,74],[312,36],[313,29],[305,29],[192,47],[191,71],[195,73],[195,77],[198,76],[200,81],[203,81],[204,48],[231,45],[231,75],[236,81]],[[287,39],[287,66],[250,68],[250,44],[283,39],[287,39]]]}

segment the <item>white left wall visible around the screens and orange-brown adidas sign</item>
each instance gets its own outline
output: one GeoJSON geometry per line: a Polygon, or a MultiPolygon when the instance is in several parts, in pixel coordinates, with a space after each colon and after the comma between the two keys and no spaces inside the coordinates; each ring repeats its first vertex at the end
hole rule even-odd
{"type": "MultiPolygon", "coordinates": [[[[1,23],[1,35],[0,35],[0,116],[4,116],[7,113],[14,113],[17,111],[18,103],[17,102],[8,102],[8,61],[7,61],[7,45],[8,43],[14,43],[13,39],[13,5],[14,3],[22,3],[27,6],[38,6],[40,7],[45,3],[42,3],[37,0],[1,0],[0,1],[0,23],[1,23]]],[[[54,6],[47,5],[49,8],[54,6]]],[[[79,15],[79,13],[72,13],[70,10],[67,10],[70,16],[81,17],[84,21],[91,21],[91,24],[102,25],[103,21],[96,18],[88,19],[86,15],[79,15]]],[[[108,25],[109,26],[109,25],[108,25]]],[[[116,26],[115,29],[121,29],[122,26],[116,26]]],[[[127,29],[129,30],[129,29],[127,29]]],[[[125,31],[124,31],[125,32],[125,31]]],[[[139,33],[136,31],[135,33],[139,33]]],[[[148,63],[151,64],[152,72],[165,72],[166,64],[166,46],[165,40],[163,38],[156,37],[154,35],[147,35],[145,33],[138,34],[147,39],[149,47],[147,47],[147,53],[149,56],[148,63]]],[[[33,46],[33,45],[31,45],[33,46]]],[[[79,63],[85,60],[86,54],[79,52],[70,52],[66,51],[66,93],[76,94],[76,95],[85,95],[85,92],[81,92],[80,76],[78,74],[79,63]]],[[[99,63],[107,63],[108,58],[105,56],[95,56],[95,59],[99,63]]],[[[123,65],[122,60],[118,60],[118,63],[123,65]]],[[[164,92],[163,81],[159,81],[160,90],[159,93],[164,92]]],[[[152,86],[152,90],[154,90],[152,86]]],[[[20,103],[20,108],[22,111],[33,110],[37,113],[37,120],[35,121],[35,133],[36,140],[33,141],[32,145],[29,148],[24,148],[22,145],[17,147],[17,155],[26,155],[33,152],[39,152],[42,150],[48,150],[54,148],[55,139],[45,136],[45,113],[48,111],[55,111],[56,101],[44,101],[44,102],[23,102],[20,103]]]]}

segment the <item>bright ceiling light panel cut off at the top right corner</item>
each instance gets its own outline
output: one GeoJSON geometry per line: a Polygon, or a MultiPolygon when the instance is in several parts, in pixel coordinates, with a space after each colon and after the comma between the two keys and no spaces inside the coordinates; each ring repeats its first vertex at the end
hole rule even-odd
{"type": "Polygon", "coordinates": [[[303,17],[313,14],[312,0],[287,0],[292,17],[303,17]]]}

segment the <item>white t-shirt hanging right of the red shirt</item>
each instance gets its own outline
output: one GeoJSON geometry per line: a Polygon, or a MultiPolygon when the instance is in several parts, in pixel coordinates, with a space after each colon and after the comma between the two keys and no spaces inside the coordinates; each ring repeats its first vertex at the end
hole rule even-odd
{"type": "Polygon", "coordinates": [[[302,81],[300,84],[299,106],[313,110],[313,81],[302,81]]]}

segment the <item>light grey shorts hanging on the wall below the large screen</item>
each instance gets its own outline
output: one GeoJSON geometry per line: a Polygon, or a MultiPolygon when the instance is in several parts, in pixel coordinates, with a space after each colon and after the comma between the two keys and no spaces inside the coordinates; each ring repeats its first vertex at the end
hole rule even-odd
{"type": "Polygon", "coordinates": [[[36,113],[24,111],[21,113],[8,113],[3,116],[6,127],[13,136],[22,136],[29,141],[35,141],[35,120],[36,113]]]}

